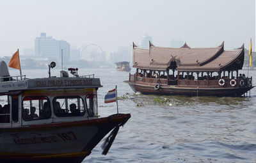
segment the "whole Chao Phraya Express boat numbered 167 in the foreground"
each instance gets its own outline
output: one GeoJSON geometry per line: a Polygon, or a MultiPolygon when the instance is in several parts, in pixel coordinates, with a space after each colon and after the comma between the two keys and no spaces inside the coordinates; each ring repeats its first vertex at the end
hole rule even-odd
{"type": "MultiPolygon", "coordinates": [[[[52,64],[51,64],[52,65],[52,64]]],[[[53,64],[54,65],[54,64],[53,64]]],[[[82,162],[113,128],[103,154],[131,114],[99,118],[94,75],[28,79],[0,62],[0,162],[82,162]]],[[[50,70],[50,66],[49,66],[50,70]]]]}

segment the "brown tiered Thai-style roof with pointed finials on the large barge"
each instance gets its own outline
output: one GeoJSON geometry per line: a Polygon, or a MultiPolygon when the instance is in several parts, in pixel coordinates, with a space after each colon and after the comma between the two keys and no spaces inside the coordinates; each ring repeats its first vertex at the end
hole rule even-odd
{"type": "Polygon", "coordinates": [[[184,43],[180,48],[157,47],[149,42],[149,49],[133,43],[134,68],[167,70],[175,61],[180,71],[239,70],[244,63],[244,45],[235,50],[224,50],[224,42],[218,47],[191,48],[184,43]]]}

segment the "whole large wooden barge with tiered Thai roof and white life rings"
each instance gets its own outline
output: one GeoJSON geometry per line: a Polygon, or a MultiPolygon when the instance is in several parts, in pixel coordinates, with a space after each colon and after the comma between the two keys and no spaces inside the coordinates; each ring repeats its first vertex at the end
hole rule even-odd
{"type": "Polygon", "coordinates": [[[240,97],[250,91],[252,77],[239,74],[244,63],[244,45],[235,50],[218,47],[149,49],[133,43],[135,74],[124,81],[136,92],[156,95],[240,97]]]}

